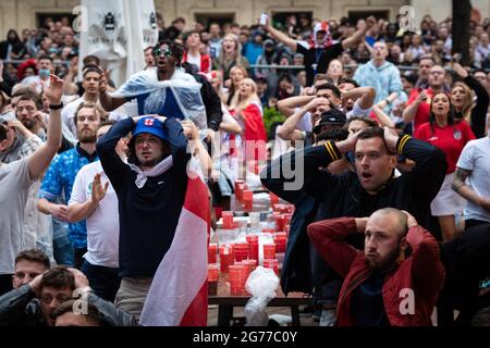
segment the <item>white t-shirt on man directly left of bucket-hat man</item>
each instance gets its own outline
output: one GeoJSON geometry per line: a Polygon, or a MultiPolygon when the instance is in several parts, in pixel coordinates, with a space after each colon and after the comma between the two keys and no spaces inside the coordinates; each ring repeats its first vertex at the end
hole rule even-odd
{"type": "MultiPolygon", "coordinates": [[[[100,161],[84,165],[76,174],[69,204],[84,203],[91,197],[91,183],[97,173],[100,182],[109,182],[100,161]]],[[[109,182],[106,197],[87,217],[87,253],[84,258],[91,264],[107,268],[119,266],[119,210],[118,196],[109,182]]]]}

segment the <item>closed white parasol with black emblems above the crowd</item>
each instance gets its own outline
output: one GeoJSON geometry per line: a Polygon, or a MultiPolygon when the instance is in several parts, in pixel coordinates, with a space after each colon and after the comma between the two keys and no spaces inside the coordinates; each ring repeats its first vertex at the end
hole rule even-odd
{"type": "Polygon", "coordinates": [[[158,41],[154,0],[82,0],[82,5],[87,23],[81,57],[97,55],[120,86],[145,67],[143,50],[158,41]]]}

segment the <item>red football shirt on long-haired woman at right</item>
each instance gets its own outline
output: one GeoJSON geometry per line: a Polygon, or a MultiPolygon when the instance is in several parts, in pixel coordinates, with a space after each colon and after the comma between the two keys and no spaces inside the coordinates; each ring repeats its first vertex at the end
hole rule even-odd
{"type": "Polygon", "coordinates": [[[415,137],[425,140],[445,153],[448,163],[446,174],[456,170],[457,159],[466,142],[475,139],[471,128],[466,121],[441,128],[437,124],[430,127],[430,123],[425,123],[415,132],[415,137]],[[432,130],[433,128],[433,130],[432,130]]]}

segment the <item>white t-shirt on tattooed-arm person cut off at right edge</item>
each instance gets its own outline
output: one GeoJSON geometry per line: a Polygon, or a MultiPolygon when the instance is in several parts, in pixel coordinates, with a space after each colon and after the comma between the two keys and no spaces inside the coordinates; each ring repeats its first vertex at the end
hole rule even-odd
{"type": "MultiPolygon", "coordinates": [[[[490,198],[490,137],[471,140],[461,152],[457,166],[471,171],[467,184],[480,197],[490,198]]],[[[490,213],[483,208],[470,202],[464,211],[465,220],[480,220],[490,222],[490,213]]]]}

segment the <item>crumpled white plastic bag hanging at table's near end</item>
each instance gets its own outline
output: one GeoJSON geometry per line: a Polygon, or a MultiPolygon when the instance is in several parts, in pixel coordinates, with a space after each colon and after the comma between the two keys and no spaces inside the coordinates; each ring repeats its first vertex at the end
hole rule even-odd
{"type": "Polygon", "coordinates": [[[275,297],[275,289],[279,286],[279,278],[270,269],[258,266],[248,276],[245,289],[252,295],[245,306],[245,326],[267,326],[269,316],[266,307],[275,297]]]}

